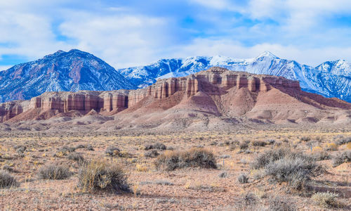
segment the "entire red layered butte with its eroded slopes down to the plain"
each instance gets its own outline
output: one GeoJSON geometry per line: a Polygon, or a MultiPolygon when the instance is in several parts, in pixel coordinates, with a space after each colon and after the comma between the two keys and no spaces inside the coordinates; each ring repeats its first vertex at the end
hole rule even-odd
{"type": "Polygon", "coordinates": [[[297,81],[218,67],[159,79],[143,89],[51,91],[29,101],[0,104],[0,122],[67,131],[77,125],[102,131],[206,131],[256,123],[348,125],[350,114],[351,103],[302,91],[297,81]]]}

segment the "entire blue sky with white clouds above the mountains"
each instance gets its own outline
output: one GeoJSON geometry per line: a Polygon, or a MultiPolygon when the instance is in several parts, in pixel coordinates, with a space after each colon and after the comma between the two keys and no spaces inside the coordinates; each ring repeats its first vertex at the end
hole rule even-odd
{"type": "Polygon", "coordinates": [[[349,0],[0,0],[0,70],[79,49],[114,68],[160,58],[351,62],[349,0]]]}

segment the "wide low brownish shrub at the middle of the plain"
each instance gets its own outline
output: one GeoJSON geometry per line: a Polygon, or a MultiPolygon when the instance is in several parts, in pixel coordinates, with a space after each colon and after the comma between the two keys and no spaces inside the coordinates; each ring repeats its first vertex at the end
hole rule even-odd
{"type": "Polygon", "coordinates": [[[157,169],[176,170],[184,167],[217,168],[213,153],[203,148],[192,148],[188,151],[166,151],[155,160],[157,169]]]}

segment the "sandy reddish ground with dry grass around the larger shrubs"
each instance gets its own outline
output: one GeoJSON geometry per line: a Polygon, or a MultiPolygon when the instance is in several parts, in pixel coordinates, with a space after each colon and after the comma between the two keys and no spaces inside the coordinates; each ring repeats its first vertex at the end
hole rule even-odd
{"type": "MultiPolygon", "coordinates": [[[[351,163],[335,164],[351,150],[350,127],[241,127],[226,132],[110,132],[1,131],[0,167],[18,185],[0,189],[1,210],[350,210],[351,163]],[[343,141],[344,140],[344,141],[343,141]],[[349,142],[347,142],[349,140],[349,142]],[[216,158],[216,169],[185,167],[159,170],[145,146],[163,143],[169,151],[206,149],[216,158]],[[108,155],[114,146],[119,153],[108,155]],[[303,152],[322,166],[302,188],[277,181],[252,163],[265,151],[303,152]],[[92,150],[93,149],[93,150],[92,150]],[[117,162],[124,169],[129,193],[82,191],[78,172],[84,168],[71,160],[117,162]],[[322,156],[323,155],[323,156],[322,156]],[[323,157],[323,159],[322,159],[323,157]],[[324,160],[325,159],[325,160],[324,160]],[[65,179],[41,179],[39,170],[63,165],[65,179]],[[242,183],[244,174],[248,180],[242,183]],[[239,181],[240,178],[240,181],[239,181]],[[333,193],[320,203],[315,193],[333,193]]],[[[152,153],[150,153],[152,156],[152,153]]]]}

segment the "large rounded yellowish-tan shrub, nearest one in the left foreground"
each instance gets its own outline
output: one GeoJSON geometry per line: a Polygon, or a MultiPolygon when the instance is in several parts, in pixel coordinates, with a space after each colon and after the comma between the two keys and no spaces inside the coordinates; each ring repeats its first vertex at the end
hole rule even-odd
{"type": "Polygon", "coordinates": [[[88,162],[78,173],[78,186],[84,192],[96,190],[128,192],[130,188],[126,180],[126,174],[120,165],[99,160],[88,162]]]}

